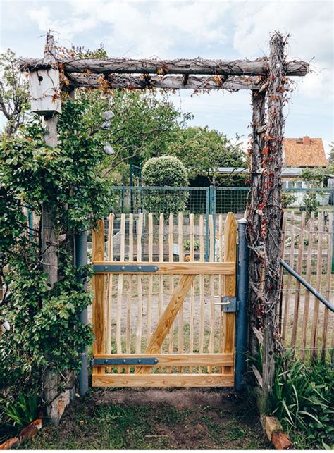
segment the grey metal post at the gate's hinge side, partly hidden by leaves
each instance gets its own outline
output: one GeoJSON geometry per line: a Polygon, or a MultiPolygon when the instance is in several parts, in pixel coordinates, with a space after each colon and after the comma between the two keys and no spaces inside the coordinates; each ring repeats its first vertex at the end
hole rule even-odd
{"type": "MultiPolygon", "coordinates": [[[[82,231],[75,235],[75,267],[85,266],[87,264],[87,231],[82,231]]],[[[83,282],[82,282],[83,283],[83,282]]],[[[84,285],[87,290],[87,284],[84,285]]],[[[87,324],[87,308],[82,310],[79,315],[80,323],[87,324]]],[[[88,363],[87,347],[80,352],[80,371],[79,371],[79,394],[84,397],[88,390],[88,363]]]]}

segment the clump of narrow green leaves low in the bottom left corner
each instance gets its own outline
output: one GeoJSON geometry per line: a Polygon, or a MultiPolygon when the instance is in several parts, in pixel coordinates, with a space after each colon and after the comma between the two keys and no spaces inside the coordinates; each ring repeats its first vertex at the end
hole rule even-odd
{"type": "Polygon", "coordinates": [[[25,428],[39,415],[37,392],[18,395],[14,402],[4,407],[4,415],[12,421],[14,426],[25,428]]]}

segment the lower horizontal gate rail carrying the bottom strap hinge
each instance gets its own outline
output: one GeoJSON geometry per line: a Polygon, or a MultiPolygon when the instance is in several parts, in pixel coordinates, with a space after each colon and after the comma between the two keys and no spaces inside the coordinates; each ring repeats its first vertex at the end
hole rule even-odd
{"type": "MultiPolygon", "coordinates": [[[[158,359],[154,366],[233,366],[233,354],[98,354],[95,359],[158,359]]],[[[140,365],[144,367],[145,365],[140,365]]],[[[145,367],[151,367],[146,365],[145,367]]]]}

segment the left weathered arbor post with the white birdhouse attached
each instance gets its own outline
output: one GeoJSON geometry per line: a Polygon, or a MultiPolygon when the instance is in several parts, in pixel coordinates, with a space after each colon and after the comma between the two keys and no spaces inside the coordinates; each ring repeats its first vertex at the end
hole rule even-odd
{"type": "MultiPolygon", "coordinates": [[[[57,146],[57,120],[61,113],[59,71],[56,61],[54,37],[47,34],[43,63],[45,68],[32,70],[29,73],[31,109],[42,115],[45,129],[45,143],[52,148],[57,146]]],[[[58,249],[56,242],[56,206],[45,201],[42,204],[42,251],[43,271],[48,276],[50,289],[58,280],[58,249]]],[[[47,414],[56,418],[49,403],[58,395],[58,376],[47,369],[43,377],[44,401],[47,403],[47,414]]]]}

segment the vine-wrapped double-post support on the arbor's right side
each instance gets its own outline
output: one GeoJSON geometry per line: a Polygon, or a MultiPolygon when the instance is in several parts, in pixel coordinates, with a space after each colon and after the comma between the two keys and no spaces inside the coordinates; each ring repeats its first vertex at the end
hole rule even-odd
{"type": "Polygon", "coordinates": [[[267,112],[264,94],[261,90],[253,92],[252,185],[247,209],[247,235],[251,252],[249,261],[251,323],[253,332],[258,332],[258,335],[256,338],[252,333],[250,347],[254,354],[256,340],[261,340],[263,411],[268,409],[268,395],[275,374],[276,309],[280,297],[284,46],[283,36],[276,32],[271,37],[268,75],[264,85],[268,101],[267,112]]]}

